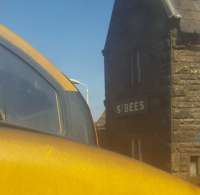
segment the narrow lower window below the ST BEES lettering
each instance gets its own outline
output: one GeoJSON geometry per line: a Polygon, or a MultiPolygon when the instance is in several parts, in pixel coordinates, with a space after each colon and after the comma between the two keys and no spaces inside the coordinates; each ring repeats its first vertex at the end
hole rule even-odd
{"type": "Polygon", "coordinates": [[[142,160],[141,140],[133,139],[131,142],[132,157],[136,160],[142,160]]]}

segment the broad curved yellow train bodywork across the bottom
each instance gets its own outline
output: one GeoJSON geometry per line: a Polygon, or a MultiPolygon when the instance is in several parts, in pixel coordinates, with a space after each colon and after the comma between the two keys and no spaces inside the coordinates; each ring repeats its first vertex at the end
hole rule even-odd
{"type": "Polygon", "coordinates": [[[0,194],[200,195],[200,189],[111,152],[1,127],[0,194]]]}

